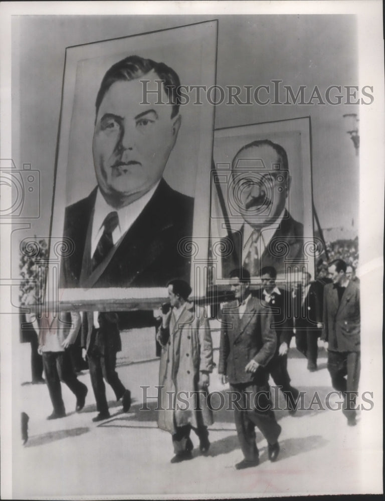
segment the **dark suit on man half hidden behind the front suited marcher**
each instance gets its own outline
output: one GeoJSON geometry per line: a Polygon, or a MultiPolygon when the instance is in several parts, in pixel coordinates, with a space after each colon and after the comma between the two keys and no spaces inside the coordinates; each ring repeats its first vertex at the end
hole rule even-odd
{"type": "Polygon", "coordinates": [[[291,338],[293,337],[291,298],[290,294],[285,290],[277,287],[275,289],[269,295],[268,301],[266,299],[267,296],[263,294],[263,287],[256,293],[256,297],[271,309],[274,319],[274,324],[271,327],[275,330],[277,336],[275,354],[268,363],[267,370],[273,378],[274,383],[281,387],[288,409],[294,412],[299,392],[290,384],[291,380],[287,371],[287,353],[284,355],[279,354],[281,344],[286,343],[287,348],[289,348],[291,338]]]}

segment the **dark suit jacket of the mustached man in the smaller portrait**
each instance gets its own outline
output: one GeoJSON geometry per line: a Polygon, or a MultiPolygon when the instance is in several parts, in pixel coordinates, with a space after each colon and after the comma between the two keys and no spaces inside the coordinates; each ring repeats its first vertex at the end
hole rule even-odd
{"type": "MultiPolygon", "coordinates": [[[[222,276],[224,278],[229,277],[230,272],[235,268],[240,266],[248,268],[246,264],[242,263],[243,246],[247,244],[244,242],[244,229],[245,224],[240,231],[234,231],[222,239],[224,248],[228,248],[229,245],[232,248],[232,252],[224,253],[222,257],[222,276]]],[[[263,228],[261,233],[264,234],[263,228]]],[[[303,224],[296,221],[285,209],[284,216],[269,243],[263,249],[256,268],[260,270],[265,266],[273,266],[277,273],[284,272],[285,265],[303,259],[303,243],[303,224]]],[[[251,275],[259,275],[259,273],[251,273],[251,275]]]]}

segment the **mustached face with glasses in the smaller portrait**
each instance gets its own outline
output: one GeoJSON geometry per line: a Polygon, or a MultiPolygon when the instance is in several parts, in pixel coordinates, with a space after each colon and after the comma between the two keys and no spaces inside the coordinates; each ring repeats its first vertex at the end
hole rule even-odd
{"type": "Polygon", "coordinates": [[[251,226],[259,229],[273,224],[285,208],[290,176],[271,146],[252,146],[240,152],[234,159],[233,182],[233,200],[251,226]],[[274,164],[280,164],[280,170],[274,164]]]}

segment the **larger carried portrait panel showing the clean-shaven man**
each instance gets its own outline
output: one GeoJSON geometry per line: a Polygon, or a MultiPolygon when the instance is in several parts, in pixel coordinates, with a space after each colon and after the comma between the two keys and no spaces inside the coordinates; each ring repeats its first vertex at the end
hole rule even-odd
{"type": "Polygon", "coordinates": [[[209,234],[214,103],[188,90],[215,86],[216,50],[216,21],[66,49],[49,300],[117,308],[173,278],[204,293],[189,242],[209,234]]]}

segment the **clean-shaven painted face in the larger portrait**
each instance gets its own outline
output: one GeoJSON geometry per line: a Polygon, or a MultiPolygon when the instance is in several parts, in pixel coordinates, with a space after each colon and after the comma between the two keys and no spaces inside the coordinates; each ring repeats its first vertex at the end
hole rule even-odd
{"type": "MultiPolygon", "coordinates": [[[[171,118],[172,105],[162,85],[158,95],[155,72],[130,81],[117,81],[105,93],[94,129],[93,157],[99,188],[113,207],[127,205],[144,195],[160,180],[175,144],[180,115],[171,118]],[[145,99],[144,99],[145,97],[145,99]],[[142,102],[150,104],[140,104],[142,102]]],[[[159,83],[159,85],[161,85],[159,83]]]]}

